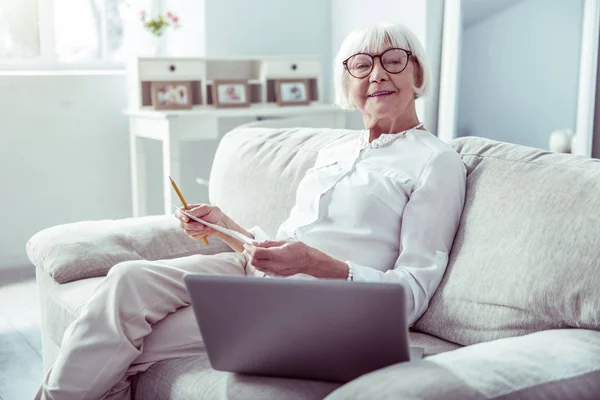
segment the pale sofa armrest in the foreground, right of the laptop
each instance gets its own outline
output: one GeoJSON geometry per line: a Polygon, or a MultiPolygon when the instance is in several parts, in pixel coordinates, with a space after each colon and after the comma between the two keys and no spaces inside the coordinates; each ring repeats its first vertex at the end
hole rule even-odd
{"type": "Polygon", "coordinates": [[[479,343],[363,375],[341,399],[598,399],[600,332],[560,329],[479,343]]]}

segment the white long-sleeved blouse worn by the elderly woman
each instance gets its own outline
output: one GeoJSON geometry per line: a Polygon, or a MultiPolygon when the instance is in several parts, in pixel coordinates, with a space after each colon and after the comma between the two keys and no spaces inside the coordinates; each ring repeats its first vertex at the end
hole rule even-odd
{"type": "MultiPolygon", "coordinates": [[[[412,326],[446,269],[466,169],[451,146],[427,131],[383,134],[372,143],[368,135],[349,135],[319,151],[277,239],[300,240],[347,261],[355,281],[405,285],[412,326]]],[[[260,228],[250,231],[269,239],[260,228]]]]}

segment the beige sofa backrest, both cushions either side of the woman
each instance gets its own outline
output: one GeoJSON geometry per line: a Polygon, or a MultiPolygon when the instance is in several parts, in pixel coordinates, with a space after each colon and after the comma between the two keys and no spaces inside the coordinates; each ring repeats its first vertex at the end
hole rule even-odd
{"type": "MultiPolygon", "coordinates": [[[[229,132],[211,171],[211,202],[274,236],[318,150],[348,134],[356,131],[229,132]]],[[[467,166],[465,208],[447,271],[414,328],[462,345],[600,329],[600,162],[484,138],[452,145],[467,166]]]]}

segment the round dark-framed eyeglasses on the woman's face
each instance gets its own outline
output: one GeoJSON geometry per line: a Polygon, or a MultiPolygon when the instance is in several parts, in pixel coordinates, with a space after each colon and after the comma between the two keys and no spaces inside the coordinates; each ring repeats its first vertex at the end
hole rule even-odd
{"type": "Polygon", "coordinates": [[[344,64],[344,68],[348,70],[350,75],[362,79],[367,77],[371,71],[373,71],[376,58],[379,58],[383,69],[387,72],[390,74],[399,74],[406,69],[410,56],[412,56],[412,51],[401,48],[392,48],[387,49],[381,54],[375,55],[357,53],[348,57],[342,64],[344,64]]]}

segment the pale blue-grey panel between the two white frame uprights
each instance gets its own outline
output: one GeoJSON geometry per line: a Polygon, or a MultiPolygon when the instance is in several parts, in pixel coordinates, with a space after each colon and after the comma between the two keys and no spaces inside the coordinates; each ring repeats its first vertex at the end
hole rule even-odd
{"type": "Polygon", "coordinates": [[[527,0],[463,33],[459,136],[548,148],[575,128],[581,0],[527,0]]]}

